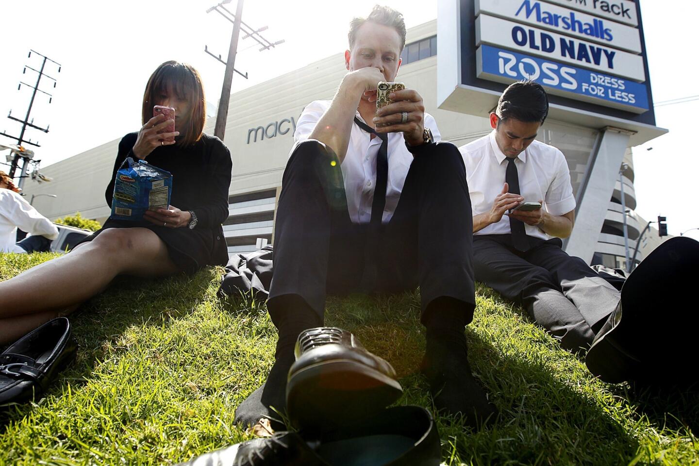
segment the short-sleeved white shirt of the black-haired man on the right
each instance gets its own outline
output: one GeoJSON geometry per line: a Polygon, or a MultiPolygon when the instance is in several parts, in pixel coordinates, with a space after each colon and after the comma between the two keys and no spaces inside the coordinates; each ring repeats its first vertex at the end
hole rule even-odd
{"type": "MultiPolygon", "coordinates": [[[[459,151],[466,165],[468,194],[471,198],[473,215],[489,212],[496,196],[503,191],[507,157],[498,147],[495,130],[488,136],[462,145],[459,151]]],[[[542,208],[552,215],[567,214],[575,209],[572,195],[570,170],[563,152],[548,144],[534,140],[529,147],[514,160],[519,177],[519,194],[524,202],[543,200],[542,208]]],[[[553,238],[541,231],[538,226],[524,224],[526,234],[548,240],[553,238]]],[[[502,235],[510,233],[510,217],[496,224],[486,226],[474,235],[502,235]]]]}

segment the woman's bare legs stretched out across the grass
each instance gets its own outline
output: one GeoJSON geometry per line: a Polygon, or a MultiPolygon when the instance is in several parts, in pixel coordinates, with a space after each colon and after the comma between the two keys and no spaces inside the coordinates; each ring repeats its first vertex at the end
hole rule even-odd
{"type": "MultiPolygon", "coordinates": [[[[110,228],[70,254],[0,283],[0,342],[41,319],[9,318],[57,312],[91,298],[120,274],[161,277],[178,272],[165,243],[147,228],[110,228]],[[25,324],[22,325],[22,322],[25,324]]],[[[25,332],[26,333],[26,332],[25,332]]]]}

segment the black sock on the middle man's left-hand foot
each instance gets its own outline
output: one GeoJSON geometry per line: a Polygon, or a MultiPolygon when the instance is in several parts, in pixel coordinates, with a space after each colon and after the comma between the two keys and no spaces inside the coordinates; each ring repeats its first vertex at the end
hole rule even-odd
{"type": "Polygon", "coordinates": [[[303,330],[322,326],[323,321],[300,296],[280,296],[275,298],[272,307],[279,331],[275,362],[265,383],[238,406],[234,422],[250,427],[261,418],[270,418],[274,430],[283,430],[284,423],[278,412],[284,414],[287,407],[287,376],[294,363],[296,339],[303,330]]]}

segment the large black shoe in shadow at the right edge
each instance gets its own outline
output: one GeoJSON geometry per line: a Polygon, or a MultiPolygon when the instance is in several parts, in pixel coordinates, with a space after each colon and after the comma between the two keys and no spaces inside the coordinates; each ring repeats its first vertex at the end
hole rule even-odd
{"type": "Polygon", "coordinates": [[[699,313],[699,242],[675,237],[656,247],[631,272],[587,352],[585,363],[603,381],[673,384],[693,381],[699,313]]]}

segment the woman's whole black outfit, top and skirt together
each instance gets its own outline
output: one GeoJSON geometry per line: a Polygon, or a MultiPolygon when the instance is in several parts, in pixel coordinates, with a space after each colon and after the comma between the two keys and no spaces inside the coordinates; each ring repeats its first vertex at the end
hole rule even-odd
{"type": "MultiPolygon", "coordinates": [[[[119,143],[112,180],[105,197],[112,205],[114,178],[127,157],[134,156],[133,147],[138,133],[130,133],[119,143]]],[[[181,270],[194,272],[204,265],[224,265],[228,262],[226,238],[221,224],[228,218],[228,189],[231,184],[231,153],[215,136],[204,134],[193,145],[157,147],[146,161],[167,170],[173,176],[170,205],[196,213],[197,224],[169,228],[150,221],[129,221],[110,217],[99,231],[85,238],[91,241],[108,228],[148,228],[158,235],[168,248],[168,256],[181,270]]]]}

